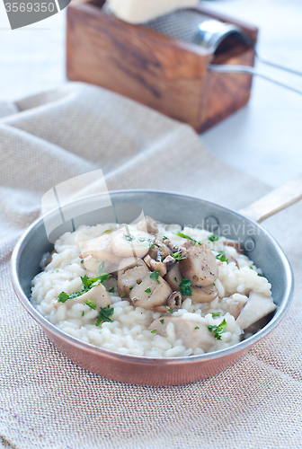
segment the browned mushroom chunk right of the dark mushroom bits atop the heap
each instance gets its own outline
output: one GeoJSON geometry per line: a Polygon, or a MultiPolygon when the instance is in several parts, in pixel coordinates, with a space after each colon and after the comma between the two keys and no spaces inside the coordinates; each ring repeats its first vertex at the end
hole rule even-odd
{"type": "Polygon", "coordinates": [[[218,278],[217,260],[206,245],[191,246],[186,259],[179,263],[182,277],[191,280],[193,286],[209,286],[218,278]]]}

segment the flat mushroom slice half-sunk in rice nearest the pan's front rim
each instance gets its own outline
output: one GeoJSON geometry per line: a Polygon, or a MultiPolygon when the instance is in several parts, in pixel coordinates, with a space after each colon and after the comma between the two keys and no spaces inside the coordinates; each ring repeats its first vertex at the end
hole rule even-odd
{"type": "Polygon", "coordinates": [[[182,344],[187,349],[191,348],[194,351],[196,348],[201,348],[204,352],[209,352],[209,349],[215,344],[215,338],[205,324],[198,320],[189,321],[184,317],[165,316],[164,319],[158,318],[152,322],[149,330],[156,330],[156,334],[166,338],[166,328],[169,322],[174,325],[176,339],[182,339],[182,344]],[[164,322],[161,320],[164,320],[164,322]]]}

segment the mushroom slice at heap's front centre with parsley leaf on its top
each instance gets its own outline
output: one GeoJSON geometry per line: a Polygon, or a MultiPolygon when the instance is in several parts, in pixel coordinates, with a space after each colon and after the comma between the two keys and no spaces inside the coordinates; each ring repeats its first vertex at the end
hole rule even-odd
{"type": "Polygon", "coordinates": [[[130,291],[130,298],[137,307],[152,309],[153,307],[166,304],[171,294],[172,290],[163,277],[159,276],[158,279],[153,279],[148,273],[142,279],[142,282],[134,286],[130,291]]]}

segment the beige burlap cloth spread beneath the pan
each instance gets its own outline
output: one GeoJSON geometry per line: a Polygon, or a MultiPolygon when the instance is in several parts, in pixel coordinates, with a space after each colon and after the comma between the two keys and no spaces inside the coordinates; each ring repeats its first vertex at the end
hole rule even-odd
{"type": "Polygon", "coordinates": [[[42,195],[99,168],[109,189],[169,189],[233,208],[270,188],[210,154],[188,126],[93,86],[0,103],[0,117],[2,445],[302,447],[301,203],[265,222],[296,276],[293,304],[269,337],[198,383],[113,382],[62,356],[13,293],[11,252],[40,215],[42,195]]]}

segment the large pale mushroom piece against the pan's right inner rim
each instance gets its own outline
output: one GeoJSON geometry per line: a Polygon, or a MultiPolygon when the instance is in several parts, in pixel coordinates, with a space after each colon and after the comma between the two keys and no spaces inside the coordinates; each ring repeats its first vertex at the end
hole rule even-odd
{"type": "Polygon", "coordinates": [[[276,304],[273,303],[271,296],[262,296],[251,292],[236,323],[244,330],[274,310],[276,310],[276,304]]]}

